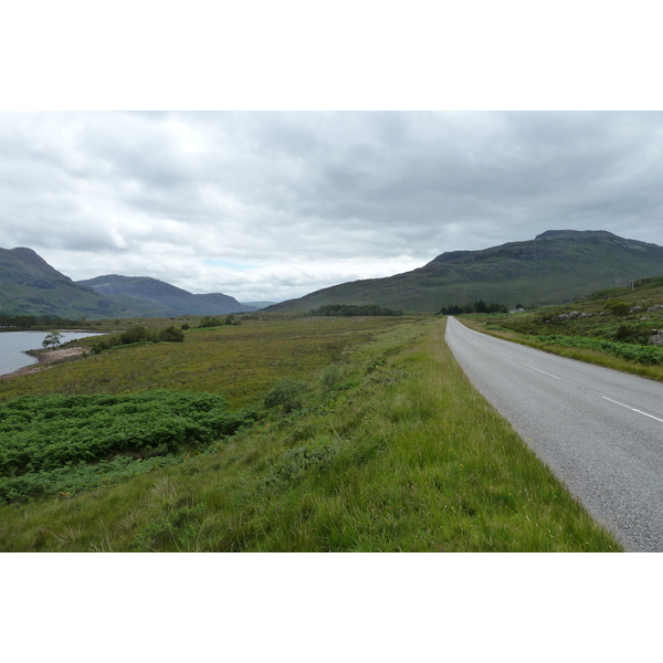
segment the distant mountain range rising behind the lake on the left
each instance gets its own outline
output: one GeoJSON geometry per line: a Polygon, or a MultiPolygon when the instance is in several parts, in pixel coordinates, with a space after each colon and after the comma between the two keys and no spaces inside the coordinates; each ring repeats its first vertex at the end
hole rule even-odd
{"type": "Polygon", "coordinates": [[[193,295],[143,276],[74,282],[32,249],[0,249],[0,313],[77,319],[223,315],[256,311],[221,293],[193,295]]]}

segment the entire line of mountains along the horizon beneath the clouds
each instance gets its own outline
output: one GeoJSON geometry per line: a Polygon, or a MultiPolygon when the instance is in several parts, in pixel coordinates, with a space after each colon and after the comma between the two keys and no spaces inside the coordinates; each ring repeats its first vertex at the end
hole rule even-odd
{"type": "MultiPolygon", "coordinates": [[[[377,305],[406,313],[484,299],[558,304],[612,287],[620,280],[663,274],[663,248],[608,231],[548,230],[534,240],[441,253],[410,272],[341,283],[267,306],[308,312],[329,304],[377,305]]],[[[78,282],[35,251],[0,249],[0,313],[52,317],[155,317],[255,311],[223,293],[194,295],[148,276],[106,274],[78,282]]]]}

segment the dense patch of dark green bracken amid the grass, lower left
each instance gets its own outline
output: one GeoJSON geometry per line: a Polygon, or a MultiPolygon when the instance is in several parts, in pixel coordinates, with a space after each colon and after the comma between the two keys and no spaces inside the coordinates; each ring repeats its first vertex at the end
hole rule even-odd
{"type": "Polygon", "coordinates": [[[0,504],[87,490],[178,462],[255,419],[251,410],[230,411],[213,393],[8,400],[0,403],[0,504]]]}

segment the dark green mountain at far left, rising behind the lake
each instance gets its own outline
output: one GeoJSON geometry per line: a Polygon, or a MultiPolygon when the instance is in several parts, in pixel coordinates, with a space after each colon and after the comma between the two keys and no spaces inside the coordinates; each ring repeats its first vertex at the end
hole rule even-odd
{"type": "Polygon", "coordinates": [[[0,312],[64,318],[116,317],[122,306],[54,270],[32,249],[0,249],[0,312]]]}

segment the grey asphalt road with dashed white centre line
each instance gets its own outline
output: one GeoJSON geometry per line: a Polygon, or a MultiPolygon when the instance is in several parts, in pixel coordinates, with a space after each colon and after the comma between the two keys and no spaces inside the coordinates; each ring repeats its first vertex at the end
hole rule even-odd
{"type": "Polygon", "coordinates": [[[628,550],[663,550],[663,383],[451,317],[445,339],[476,389],[596,520],[628,550]]]}

